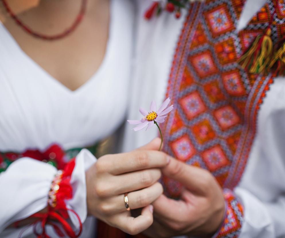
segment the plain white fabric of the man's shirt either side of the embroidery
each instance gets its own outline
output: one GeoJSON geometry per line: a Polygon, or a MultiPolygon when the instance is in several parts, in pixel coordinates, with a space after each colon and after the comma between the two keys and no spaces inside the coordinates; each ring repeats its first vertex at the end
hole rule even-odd
{"type": "MultiPolygon", "coordinates": [[[[239,29],[246,26],[265,0],[246,2],[239,29]]],[[[135,64],[128,119],[141,118],[139,107],[149,109],[152,100],[163,102],[167,81],[183,27],[186,11],[176,20],[163,12],[150,21],[143,19],[151,1],[137,1],[135,64]]],[[[285,78],[276,78],[258,115],[257,134],[237,196],[244,205],[241,238],[285,237],[285,78]]],[[[157,137],[157,128],[134,132],[126,123],[124,150],[129,151],[157,137]]]]}

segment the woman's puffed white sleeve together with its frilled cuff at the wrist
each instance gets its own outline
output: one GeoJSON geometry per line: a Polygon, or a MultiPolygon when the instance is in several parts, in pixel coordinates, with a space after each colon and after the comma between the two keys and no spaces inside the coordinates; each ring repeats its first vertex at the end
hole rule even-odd
{"type": "MultiPolygon", "coordinates": [[[[87,149],[82,149],[76,157],[71,175],[73,198],[67,200],[66,204],[79,215],[82,223],[87,216],[85,170],[94,162],[96,158],[87,149]]],[[[56,171],[50,164],[25,157],[13,162],[0,174],[0,237],[7,237],[11,233],[11,237],[17,237],[19,229],[2,231],[13,222],[25,219],[46,207],[48,191],[56,171]]],[[[76,225],[78,222],[75,219],[71,216],[76,225]]],[[[29,231],[31,229],[27,232],[29,231]]]]}

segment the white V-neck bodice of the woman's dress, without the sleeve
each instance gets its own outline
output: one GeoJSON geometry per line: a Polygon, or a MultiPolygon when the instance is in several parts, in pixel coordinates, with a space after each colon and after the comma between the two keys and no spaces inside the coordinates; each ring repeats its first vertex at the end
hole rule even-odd
{"type": "Polygon", "coordinates": [[[133,16],[128,7],[128,1],[113,1],[103,62],[74,91],[24,53],[0,25],[0,151],[45,149],[51,143],[64,149],[91,145],[122,123],[132,54],[133,16]]]}

